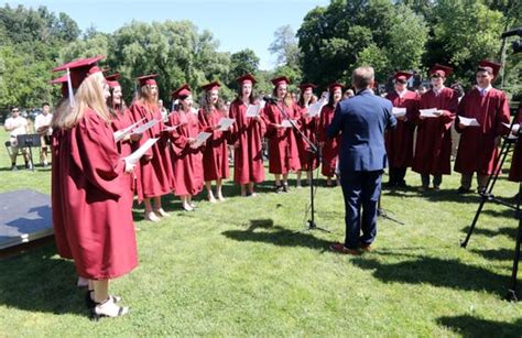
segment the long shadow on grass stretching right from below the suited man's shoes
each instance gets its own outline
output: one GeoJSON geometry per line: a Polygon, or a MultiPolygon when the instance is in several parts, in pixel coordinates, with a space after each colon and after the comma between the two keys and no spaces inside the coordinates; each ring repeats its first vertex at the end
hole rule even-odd
{"type": "Polygon", "coordinates": [[[373,275],[385,283],[431,284],[464,291],[487,291],[500,297],[505,295],[509,284],[508,276],[467,265],[458,260],[418,255],[415,260],[391,264],[363,258],[352,262],[361,269],[373,270],[373,275]]]}

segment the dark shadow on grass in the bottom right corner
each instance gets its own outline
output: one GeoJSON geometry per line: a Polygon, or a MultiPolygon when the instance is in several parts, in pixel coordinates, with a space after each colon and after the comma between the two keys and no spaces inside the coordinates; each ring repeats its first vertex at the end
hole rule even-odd
{"type": "Polygon", "coordinates": [[[522,319],[504,323],[476,318],[469,315],[437,318],[437,324],[463,337],[520,337],[522,319]]]}

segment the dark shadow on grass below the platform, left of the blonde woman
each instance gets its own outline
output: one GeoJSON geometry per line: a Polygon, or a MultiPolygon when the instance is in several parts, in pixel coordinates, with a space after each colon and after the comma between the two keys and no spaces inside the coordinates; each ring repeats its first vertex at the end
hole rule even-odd
{"type": "Polygon", "coordinates": [[[72,261],[52,243],[0,259],[0,304],[28,312],[87,316],[85,288],[76,287],[72,261]]]}

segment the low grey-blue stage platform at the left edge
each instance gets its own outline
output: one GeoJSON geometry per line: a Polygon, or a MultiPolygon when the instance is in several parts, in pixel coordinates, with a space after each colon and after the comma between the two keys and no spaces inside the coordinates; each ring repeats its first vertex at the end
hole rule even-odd
{"type": "Polygon", "coordinates": [[[0,194],[0,250],[53,236],[51,196],[34,190],[0,194]]]}

